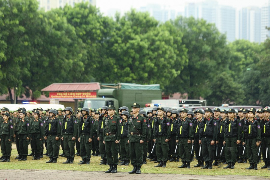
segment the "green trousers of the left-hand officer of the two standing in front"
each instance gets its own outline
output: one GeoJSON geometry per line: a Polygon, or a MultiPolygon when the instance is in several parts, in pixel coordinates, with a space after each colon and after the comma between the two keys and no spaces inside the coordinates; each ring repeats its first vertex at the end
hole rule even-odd
{"type": "Polygon", "coordinates": [[[108,164],[118,165],[119,145],[115,141],[105,141],[105,150],[108,164]]]}

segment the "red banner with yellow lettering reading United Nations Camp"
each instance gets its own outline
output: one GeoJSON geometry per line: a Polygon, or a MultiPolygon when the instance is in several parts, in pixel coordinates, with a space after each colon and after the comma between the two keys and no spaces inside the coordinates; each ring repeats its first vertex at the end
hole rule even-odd
{"type": "Polygon", "coordinates": [[[52,99],[87,99],[96,98],[97,92],[50,92],[52,99]]]}

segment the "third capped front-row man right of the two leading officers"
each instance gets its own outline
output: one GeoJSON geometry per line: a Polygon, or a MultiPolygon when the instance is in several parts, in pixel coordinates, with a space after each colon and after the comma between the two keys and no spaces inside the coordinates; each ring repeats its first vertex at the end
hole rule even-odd
{"type": "Polygon", "coordinates": [[[212,110],[206,108],[205,119],[201,123],[199,133],[199,144],[202,144],[202,156],[205,161],[205,166],[202,169],[212,169],[214,161],[215,141],[217,139],[217,123],[211,117],[212,110]]]}

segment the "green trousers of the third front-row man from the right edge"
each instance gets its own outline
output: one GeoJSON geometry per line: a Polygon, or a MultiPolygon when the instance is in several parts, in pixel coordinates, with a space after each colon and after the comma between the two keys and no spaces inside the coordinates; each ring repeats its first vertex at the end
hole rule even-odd
{"type": "Polygon", "coordinates": [[[227,163],[235,163],[236,162],[236,154],[237,154],[237,137],[229,137],[226,138],[225,144],[225,158],[227,163]]]}

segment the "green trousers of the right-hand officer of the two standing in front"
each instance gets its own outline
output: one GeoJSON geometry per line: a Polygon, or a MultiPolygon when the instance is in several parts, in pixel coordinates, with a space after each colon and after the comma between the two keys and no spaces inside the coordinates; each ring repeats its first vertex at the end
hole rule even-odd
{"type": "Polygon", "coordinates": [[[133,166],[143,165],[143,144],[140,142],[129,142],[130,161],[133,166]]]}

